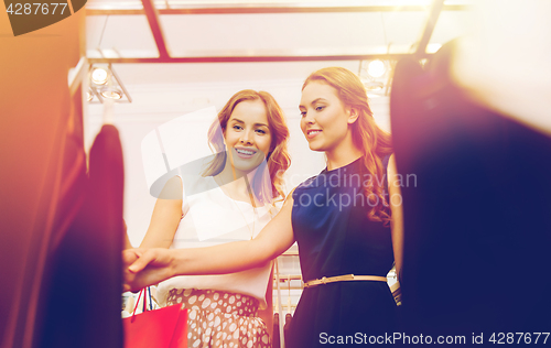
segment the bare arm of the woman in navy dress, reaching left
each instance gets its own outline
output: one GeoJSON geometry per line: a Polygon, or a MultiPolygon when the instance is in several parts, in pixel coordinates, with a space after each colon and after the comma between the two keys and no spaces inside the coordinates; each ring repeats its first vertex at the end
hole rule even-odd
{"type": "Polygon", "coordinates": [[[194,249],[132,249],[123,252],[126,290],[139,290],[175,275],[225,274],[266,264],[294,242],[292,194],[252,240],[194,249]]]}

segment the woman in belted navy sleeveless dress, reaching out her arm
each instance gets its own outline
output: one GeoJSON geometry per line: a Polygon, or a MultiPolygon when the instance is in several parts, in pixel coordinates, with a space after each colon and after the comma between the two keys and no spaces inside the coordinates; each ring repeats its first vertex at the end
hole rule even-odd
{"type": "Polygon", "coordinates": [[[392,262],[400,272],[403,231],[390,135],[375,123],[359,78],[345,68],[309,76],[300,111],[310,149],[325,152],[327,167],[293,189],[250,241],[126,251],[126,289],[180,274],[255,268],[296,241],[305,289],[289,347],[316,347],[346,336],[364,339],[364,334],[395,329],[396,304],[386,275],[392,262]]]}

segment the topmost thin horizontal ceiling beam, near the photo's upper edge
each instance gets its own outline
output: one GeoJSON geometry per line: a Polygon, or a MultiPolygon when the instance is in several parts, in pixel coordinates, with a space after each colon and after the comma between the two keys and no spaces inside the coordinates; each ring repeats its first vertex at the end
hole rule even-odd
{"type": "MultiPolygon", "coordinates": [[[[143,1],[143,0],[142,0],[143,1]]],[[[150,2],[151,0],[148,0],[150,2]]],[[[156,9],[159,14],[247,14],[247,13],[332,13],[332,12],[413,12],[426,11],[428,6],[217,6],[217,7],[201,7],[188,6],[175,9],[156,9]]],[[[465,11],[468,9],[466,4],[445,4],[443,11],[465,11]]],[[[87,15],[132,15],[144,14],[143,9],[101,9],[88,6],[86,8],[87,15]]]]}

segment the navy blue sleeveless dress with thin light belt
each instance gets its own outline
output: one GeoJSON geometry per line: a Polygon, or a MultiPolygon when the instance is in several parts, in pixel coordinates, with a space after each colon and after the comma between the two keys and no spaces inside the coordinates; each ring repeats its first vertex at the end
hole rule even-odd
{"type": "MultiPolygon", "coordinates": [[[[386,276],[392,268],[390,228],[367,218],[366,178],[358,159],[294,191],[292,226],[305,282],[345,274],[386,276]]],[[[326,346],[329,336],[390,333],[395,325],[396,303],[386,282],[328,283],[304,289],[288,346],[326,346]]]]}

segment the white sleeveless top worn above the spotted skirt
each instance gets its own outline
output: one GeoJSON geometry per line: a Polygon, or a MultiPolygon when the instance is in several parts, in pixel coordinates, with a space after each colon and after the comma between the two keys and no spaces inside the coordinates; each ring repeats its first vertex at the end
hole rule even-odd
{"type": "MultiPolygon", "coordinates": [[[[193,195],[186,195],[186,185],[183,185],[184,217],[174,235],[171,249],[203,248],[250,240],[276,214],[273,208],[270,211],[269,205],[257,207],[255,214],[251,204],[229,198],[213,176],[194,178],[192,185],[193,195]]],[[[271,262],[268,262],[263,267],[237,273],[174,276],[159,284],[158,300],[160,305],[165,306],[172,289],[209,289],[256,297],[260,308],[266,308],[264,296],[270,272],[271,262]]]]}

